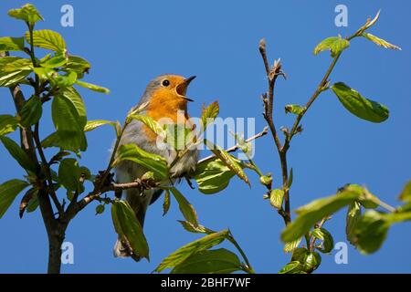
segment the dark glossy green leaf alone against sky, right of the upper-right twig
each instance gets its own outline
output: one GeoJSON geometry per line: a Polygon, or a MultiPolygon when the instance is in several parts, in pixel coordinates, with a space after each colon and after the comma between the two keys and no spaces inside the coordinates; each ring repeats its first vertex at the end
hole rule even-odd
{"type": "Polygon", "coordinates": [[[360,93],[342,82],[332,85],[332,91],[345,109],[363,120],[383,122],[388,119],[389,110],[374,100],[365,99],[360,93]]]}

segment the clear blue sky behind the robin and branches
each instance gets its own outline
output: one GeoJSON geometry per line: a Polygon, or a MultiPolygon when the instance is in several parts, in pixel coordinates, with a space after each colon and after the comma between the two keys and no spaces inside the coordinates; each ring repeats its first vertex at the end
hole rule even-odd
{"type": "MultiPolygon", "coordinates": [[[[255,117],[264,127],[259,95],[266,89],[264,68],[258,55],[258,40],[266,37],[269,57],[281,57],[288,80],[280,80],[275,120],[290,125],[283,106],[304,103],[317,86],[330,62],[327,53],[314,57],[313,47],[322,38],[346,36],[382,8],[372,33],[403,48],[401,52],[356,40],[337,66],[332,80],[344,81],[365,96],[380,100],[391,110],[383,124],[358,120],[347,113],[331,92],[321,95],[303,120],[304,132],[292,143],[290,166],[294,169],[292,207],[335,193],[345,183],[366,185],[385,202],[397,204],[397,194],[411,178],[409,110],[410,54],[409,1],[32,1],[46,22],[37,28],[57,30],[66,38],[70,53],[86,57],[92,68],[86,81],[111,89],[111,95],[80,90],[89,120],[123,120],[147,82],[164,72],[197,75],[189,89],[195,103],[190,112],[198,116],[203,103],[220,102],[221,117],[255,117]],[[75,26],[60,26],[60,7],[74,6],[75,26]],[[334,26],[334,7],[349,9],[349,26],[334,26]]],[[[26,1],[2,1],[0,36],[21,36],[26,27],[6,16],[10,8],[26,1]]],[[[1,113],[13,111],[6,89],[0,89],[1,113]]],[[[48,107],[47,107],[48,108],[48,107]]],[[[42,132],[53,129],[47,114],[42,132]]],[[[13,136],[13,137],[16,137],[13,136]]],[[[89,149],[82,164],[93,172],[103,169],[113,139],[110,128],[89,134],[89,149]]],[[[279,185],[277,153],[269,136],[258,140],[256,162],[264,172],[273,172],[279,185]]],[[[205,155],[205,153],[203,154],[205,155]]],[[[20,178],[17,167],[0,148],[0,181],[20,178]]],[[[206,196],[181,191],[195,205],[200,221],[215,230],[229,227],[260,273],[276,273],[290,255],[282,252],[279,233],[283,222],[267,201],[258,178],[249,189],[234,179],[222,193],[206,196]]],[[[18,199],[0,220],[0,272],[42,273],[47,267],[47,235],[39,215],[18,218],[18,199]]],[[[176,203],[162,217],[162,203],[150,208],[145,234],[151,247],[151,262],[139,264],[115,259],[116,235],[111,214],[94,215],[94,204],[70,224],[66,240],[74,244],[75,263],[65,273],[145,273],[163,257],[195,240],[176,222],[181,219],[176,203]]],[[[344,214],[326,225],[336,242],[344,241],[344,214]]],[[[350,247],[349,264],[336,265],[324,255],[320,273],[411,272],[411,224],[394,226],[384,247],[363,256],[350,247]]],[[[231,248],[231,247],[230,247],[231,248]]]]}

